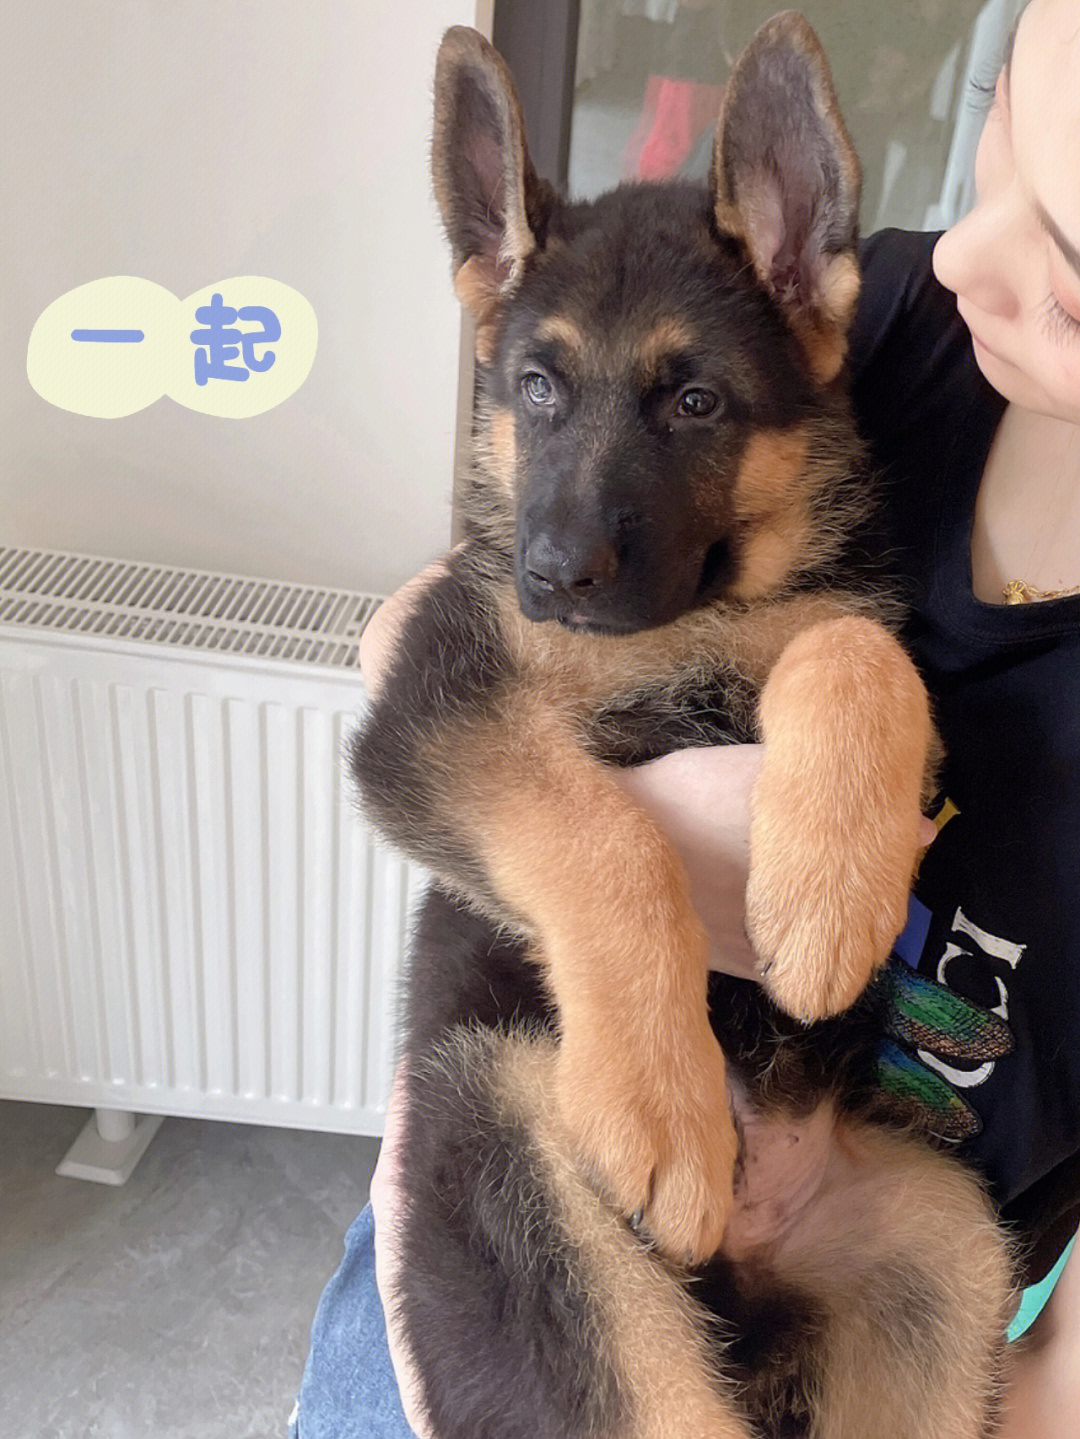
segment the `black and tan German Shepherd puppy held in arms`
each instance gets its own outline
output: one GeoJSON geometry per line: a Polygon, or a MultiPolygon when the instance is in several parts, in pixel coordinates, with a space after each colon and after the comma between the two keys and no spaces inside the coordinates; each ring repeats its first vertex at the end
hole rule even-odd
{"type": "Polygon", "coordinates": [[[401,1294],[434,1430],[975,1439],[1004,1240],[961,1166],[870,1122],[873,1003],[834,1017],[903,927],[935,741],[867,558],[859,167],[824,55],[778,16],[708,186],[568,204],[505,65],[454,29],[433,170],[476,322],[467,538],[351,757],[437,876],[401,1294]],[[764,991],[710,987],[683,866],[613,777],[749,740],[764,991]],[[772,1120],[825,1132],[817,1189],[725,1248],[772,1120]]]}

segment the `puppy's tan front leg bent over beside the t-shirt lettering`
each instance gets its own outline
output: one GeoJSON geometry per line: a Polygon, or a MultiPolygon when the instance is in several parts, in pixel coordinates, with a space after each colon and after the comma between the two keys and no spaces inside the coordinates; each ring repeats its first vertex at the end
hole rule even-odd
{"type": "Polygon", "coordinates": [[[905,925],[929,701],[897,640],[844,616],[788,643],[759,722],[746,924],[777,1003],[823,1019],[859,997],[905,925]]]}

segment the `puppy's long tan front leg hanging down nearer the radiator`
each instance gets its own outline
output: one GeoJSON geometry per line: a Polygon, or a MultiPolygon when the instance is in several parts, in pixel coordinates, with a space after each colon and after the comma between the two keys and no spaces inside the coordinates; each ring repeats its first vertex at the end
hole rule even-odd
{"type": "Polygon", "coordinates": [[[567,721],[522,701],[503,734],[476,757],[467,819],[546,967],[571,1143],[664,1253],[703,1261],[723,1235],[736,1138],[682,861],[567,721]]]}

